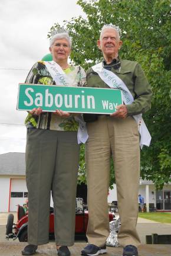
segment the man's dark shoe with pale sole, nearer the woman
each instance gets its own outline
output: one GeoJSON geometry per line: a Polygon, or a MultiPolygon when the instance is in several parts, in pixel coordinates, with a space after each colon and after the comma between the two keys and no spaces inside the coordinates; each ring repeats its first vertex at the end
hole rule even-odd
{"type": "Polygon", "coordinates": [[[82,251],[81,255],[90,255],[90,256],[96,256],[98,254],[105,254],[106,253],[106,245],[103,247],[97,247],[93,244],[88,244],[82,251]]]}

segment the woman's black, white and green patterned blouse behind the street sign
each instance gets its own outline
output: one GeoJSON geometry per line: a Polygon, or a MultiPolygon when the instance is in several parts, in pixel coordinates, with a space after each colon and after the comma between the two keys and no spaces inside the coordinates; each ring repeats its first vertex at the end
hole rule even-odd
{"type": "MultiPolygon", "coordinates": [[[[69,68],[64,69],[65,74],[70,79],[70,86],[84,87],[86,84],[86,75],[80,66],[71,65],[69,68]]],[[[29,71],[26,84],[41,84],[41,85],[55,85],[50,72],[43,61],[37,62],[29,71]]],[[[52,112],[42,113],[40,116],[28,114],[25,119],[27,128],[47,129],[47,130],[60,130],[60,131],[77,131],[78,123],[75,121],[74,116],[63,118],[57,116],[52,112]]]]}

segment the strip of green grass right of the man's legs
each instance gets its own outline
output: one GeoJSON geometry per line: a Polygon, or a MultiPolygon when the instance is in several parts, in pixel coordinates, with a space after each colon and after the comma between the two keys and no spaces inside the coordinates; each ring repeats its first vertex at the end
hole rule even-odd
{"type": "Polygon", "coordinates": [[[159,212],[152,212],[152,213],[139,213],[139,217],[143,219],[149,219],[156,222],[161,223],[171,223],[171,213],[159,213],[159,212]]]}

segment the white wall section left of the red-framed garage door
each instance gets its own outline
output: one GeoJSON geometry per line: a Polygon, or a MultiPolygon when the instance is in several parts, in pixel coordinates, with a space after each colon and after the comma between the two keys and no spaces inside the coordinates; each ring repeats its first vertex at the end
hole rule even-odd
{"type": "Polygon", "coordinates": [[[0,178],[0,213],[8,212],[10,178],[0,178]]]}

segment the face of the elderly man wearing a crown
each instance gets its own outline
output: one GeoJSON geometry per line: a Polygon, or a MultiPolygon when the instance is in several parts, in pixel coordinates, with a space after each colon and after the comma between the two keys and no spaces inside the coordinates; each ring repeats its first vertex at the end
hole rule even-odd
{"type": "Polygon", "coordinates": [[[104,58],[112,57],[114,59],[117,57],[121,44],[122,41],[118,39],[116,30],[113,28],[106,28],[101,40],[97,41],[97,46],[103,52],[104,58]]]}

